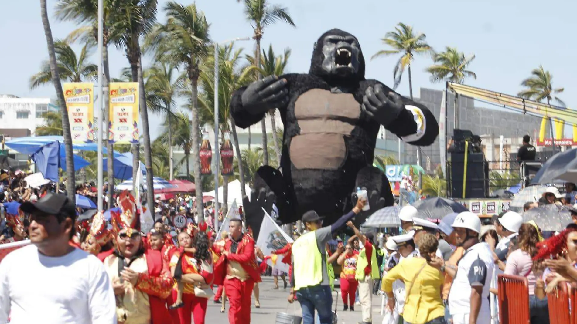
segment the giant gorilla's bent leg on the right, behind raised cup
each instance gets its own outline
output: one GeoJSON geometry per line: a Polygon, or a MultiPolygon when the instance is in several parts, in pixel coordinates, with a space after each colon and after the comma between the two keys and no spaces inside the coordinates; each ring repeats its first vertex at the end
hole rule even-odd
{"type": "Polygon", "coordinates": [[[357,187],[366,188],[370,207],[369,210],[361,212],[361,214],[355,217],[353,223],[357,226],[362,224],[366,218],[377,210],[385,206],[392,206],[395,203],[391,191],[391,184],[387,176],[379,168],[364,167],[358,172],[353,191],[353,206],[357,204],[357,187]]]}

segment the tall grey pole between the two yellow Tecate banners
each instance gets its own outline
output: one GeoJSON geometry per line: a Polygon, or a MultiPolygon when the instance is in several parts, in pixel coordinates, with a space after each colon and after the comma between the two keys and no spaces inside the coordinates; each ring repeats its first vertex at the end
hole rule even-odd
{"type": "MultiPolygon", "coordinates": [[[[98,0],[98,173],[96,174],[98,183],[98,210],[102,210],[102,108],[104,99],[104,88],[102,86],[102,43],[103,43],[103,20],[104,20],[103,0],[98,0]]],[[[110,159],[110,156],[108,156],[110,159]]]]}

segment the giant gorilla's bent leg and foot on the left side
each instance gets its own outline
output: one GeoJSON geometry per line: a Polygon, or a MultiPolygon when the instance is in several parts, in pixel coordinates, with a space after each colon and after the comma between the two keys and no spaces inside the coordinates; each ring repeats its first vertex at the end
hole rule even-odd
{"type": "Polygon", "coordinates": [[[258,238],[260,226],[263,223],[264,210],[271,215],[272,205],[278,209],[277,223],[282,223],[288,210],[287,187],[280,171],[264,165],[258,168],[254,175],[253,189],[248,197],[243,197],[243,208],[245,209],[246,225],[252,229],[254,240],[258,238]],[[264,210],[263,210],[264,209],[264,210]]]}

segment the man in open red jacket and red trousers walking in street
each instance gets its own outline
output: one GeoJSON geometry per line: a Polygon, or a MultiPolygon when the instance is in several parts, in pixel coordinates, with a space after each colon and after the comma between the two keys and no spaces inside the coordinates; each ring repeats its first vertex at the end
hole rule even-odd
{"type": "Polygon", "coordinates": [[[256,282],[260,282],[260,272],[254,257],[254,239],[242,232],[242,221],[229,221],[230,238],[226,239],[219,261],[215,265],[213,284],[224,284],[230,308],[230,324],[250,323],[250,300],[256,282]]]}

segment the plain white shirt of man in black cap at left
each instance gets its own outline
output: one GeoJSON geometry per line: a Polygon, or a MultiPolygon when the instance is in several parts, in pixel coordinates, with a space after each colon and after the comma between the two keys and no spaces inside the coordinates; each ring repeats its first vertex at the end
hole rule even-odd
{"type": "Polygon", "coordinates": [[[115,324],[114,290],[104,265],[78,248],[46,257],[35,245],[0,262],[0,323],[115,324]]]}

